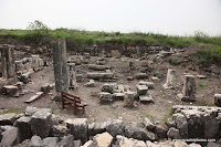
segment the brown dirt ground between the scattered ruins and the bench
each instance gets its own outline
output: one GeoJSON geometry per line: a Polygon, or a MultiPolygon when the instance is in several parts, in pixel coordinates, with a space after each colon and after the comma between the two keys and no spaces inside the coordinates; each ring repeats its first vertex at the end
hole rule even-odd
{"type": "MultiPolygon", "coordinates": [[[[76,57],[76,56],[75,56],[76,57]]],[[[149,61],[152,61],[152,56],[149,56],[149,61]]],[[[95,63],[97,57],[93,56],[90,59],[90,63],[95,63]]],[[[140,104],[138,106],[128,109],[123,106],[123,102],[114,102],[112,105],[101,105],[97,94],[101,92],[102,85],[104,83],[117,83],[128,85],[131,91],[135,91],[138,80],[127,81],[127,76],[133,76],[143,70],[141,63],[137,59],[116,59],[108,57],[106,60],[106,65],[109,65],[110,71],[115,73],[118,77],[116,82],[99,82],[95,81],[95,87],[85,87],[84,84],[87,82],[80,82],[78,88],[70,91],[70,93],[80,96],[84,102],[88,104],[84,115],[74,115],[72,109],[66,107],[62,109],[62,105],[59,102],[51,101],[54,96],[55,90],[51,90],[50,94],[44,97],[33,102],[31,104],[23,103],[25,99],[30,98],[34,93],[39,92],[41,86],[45,83],[53,84],[53,66],[50,65],[42,71],[35,72],[31,76],[31,82],[24,86],[25,94],[18,98],[8,97],[6,95],[0,95],[0,107],[7,109],[24,109],[27,106],[35,107],[49,107],[52,108],[54,114],[62,117],[86,117],[90,122],[103,122],[110,118],[119,118],[126,122],[135,122],[143,119],[144,117],[149,117],[154,120],[165,120],[171,115],[171,106],[177,104],[182,105],[213,105],[213,94],[221,92],[221,80],[213,76],[208,76],[206,80],[197,78],[197,102],[185,103],[176,98],[176,95],[181,92],[183,83],[183,73],[190,73],[193,75],[200,74],[197,70],[188,70],[186,66],[170,65],[164,60],[157,61],[152,64],[149,71],[149,78],[146,81],[151,81],[151,76],[156,73],[160,74],[159,82],[155,83],[154,90],[148,90],[149,94],[154,96],[154,104],[140,104]],[[135,64],[135,69],[129,69],[129,61],[135,64]],[[166,75],[168,69],[177,70],[177,87],[175,90],[165,90],[162,84],[166,82],[166,75]]],[[[88,71],[86,64],[81,64],[76,66],[77,72],[85,73],[88,71]]],[[[13,111],[11,111],[13,112],[13,111]]]]}

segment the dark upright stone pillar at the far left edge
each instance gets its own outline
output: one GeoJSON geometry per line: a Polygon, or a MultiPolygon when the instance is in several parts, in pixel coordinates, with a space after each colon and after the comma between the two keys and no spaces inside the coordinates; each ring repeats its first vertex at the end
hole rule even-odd
{"type": "Polygon", "coordinates": [[[4,44],[0,51],[2,77],[15,80],[14,45],[4,44]]]}

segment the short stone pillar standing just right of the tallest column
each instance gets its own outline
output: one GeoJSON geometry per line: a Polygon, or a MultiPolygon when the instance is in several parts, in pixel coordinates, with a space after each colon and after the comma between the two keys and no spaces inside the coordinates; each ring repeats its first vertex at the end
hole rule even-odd
{"type": "Polygon", "coordinates": [[[70,74],[70,83],[69,87],[70,88],[77,88],[76,84],[76,69],[75,69],[75,63],[69,63],[69,74],[70,74]]]}

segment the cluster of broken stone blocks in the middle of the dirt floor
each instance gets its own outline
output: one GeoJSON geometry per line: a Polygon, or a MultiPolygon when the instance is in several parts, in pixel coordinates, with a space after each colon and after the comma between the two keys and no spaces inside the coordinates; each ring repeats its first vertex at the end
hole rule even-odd
{"type": "Polygon", "coordinates": [[[98,93],[101,104],[112,104],[115,101],[123,101],[124,107],[135,107],[135,101],[143,104],[154,103],[154,98],[148,94],[148,88],[154,88],[152,82],[140,81],[136,85],[137,91],[133,92],[128,85],[117,85],[116,83],[105,83],[102,92],[98,93]]]}

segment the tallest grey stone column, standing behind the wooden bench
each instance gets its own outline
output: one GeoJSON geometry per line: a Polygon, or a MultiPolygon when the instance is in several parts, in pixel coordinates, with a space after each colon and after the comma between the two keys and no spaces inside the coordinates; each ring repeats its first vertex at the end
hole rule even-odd
{"type": "Polygon", "coordinates": [[[53,44],[54,78],[56,93],[69,91],[69,72],[66,63],[66,43],[59,40],[53,44]]]}

